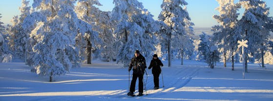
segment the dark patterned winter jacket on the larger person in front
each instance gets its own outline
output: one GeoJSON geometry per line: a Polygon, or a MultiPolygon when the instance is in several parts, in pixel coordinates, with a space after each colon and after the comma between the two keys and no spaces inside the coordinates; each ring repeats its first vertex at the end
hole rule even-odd
{"type": "Polygon", "coordinates": [[[134,74],[140,74],[142,75],[145,72],[146,66],[146,60],[145,58],[140,54],[138,57],[133,57],[130,64],[129,64],[129,71],[133,68],[133,73],[134,74]]]}

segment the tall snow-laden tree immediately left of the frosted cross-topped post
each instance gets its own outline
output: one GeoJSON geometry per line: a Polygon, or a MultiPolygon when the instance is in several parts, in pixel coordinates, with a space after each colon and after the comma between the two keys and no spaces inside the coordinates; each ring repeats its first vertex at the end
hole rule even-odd
{"type": "Polygon", "coordinates": [[[234,56],[237,49],[237,39],[240,34],[232,32],[236,23],[239,13],[237,11],[241,8],[239,3],[234,3],[234,0],[217,0],[219,7],[216,8],[219,11],[219,15],[214,15],[219,25],[212,26],[213,38],[212,41],[218,45],[221,53],[223,53],[224,67],[227,62],[227,52],[231,51],[232,70],[234,70],[234,56]]]}

